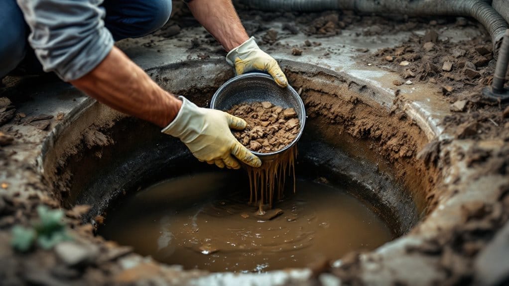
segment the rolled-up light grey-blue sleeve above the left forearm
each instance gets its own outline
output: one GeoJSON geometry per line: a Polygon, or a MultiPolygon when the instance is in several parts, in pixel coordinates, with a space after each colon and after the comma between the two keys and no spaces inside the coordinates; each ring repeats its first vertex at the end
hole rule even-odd
{"type": "Polygon", "coordinates": [[[114,40],[104,26],[102,0],[17,0],[29,24],[29,43],[44,71],[65,81],[92,71],[114,40]]]}

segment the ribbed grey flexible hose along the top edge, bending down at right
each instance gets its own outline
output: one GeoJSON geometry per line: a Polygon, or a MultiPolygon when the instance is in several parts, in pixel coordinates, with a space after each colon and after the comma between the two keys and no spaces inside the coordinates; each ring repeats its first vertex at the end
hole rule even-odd
{"type": "Polygon", "coordinates": [[[402,14],[408,16],[470,16],[490,33],[494,55],[509,26],[491,7],[491,0],[237,0],[252,9],[265,11],[354,10],[363,14],[402,14]]]}

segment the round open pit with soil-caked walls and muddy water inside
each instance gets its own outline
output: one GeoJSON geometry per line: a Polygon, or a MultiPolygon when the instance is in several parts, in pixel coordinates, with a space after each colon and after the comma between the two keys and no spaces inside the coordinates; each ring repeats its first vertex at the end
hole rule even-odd
{"type": "MultiPolygon", "coordinates": [[[[415,157],[428,143],[425,133],[370,101],[372,90],[325,70],[303,72],[313,66],[285,68],[302,88],[308,121],[298,143],[296,193],[289,184],[268,211],[282,211],[274,217],[257,217],[257,206],[248,205],[245,171],[200,163],[155,126],[98,103],[84,103],[47,145],[46,180],[62,206],[92,207],[83,219],[99,235],[184,269],[305,269],[408,233],[433,210],[437,176],[415,157]]],[[[166,80],[181,72],[149,74],[175,90],[192,84],[166,80]]],[[[205,86],[179,94],[207,106],[229,76],[204,75],[205,86]]]]}

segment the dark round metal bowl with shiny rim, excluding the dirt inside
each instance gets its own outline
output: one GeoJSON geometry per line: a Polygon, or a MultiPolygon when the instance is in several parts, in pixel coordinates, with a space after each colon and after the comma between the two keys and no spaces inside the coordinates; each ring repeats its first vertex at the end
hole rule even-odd
{"type": "Polygon", "coordinates": [[[219,87],[212,97],[210,108],[227,111],[236,104],[263,101],[268,101],[273,105],[279,105],[284,108],[293,107],[300,121],[300,131],[297,137],[285,148],[270,153],[260,153],[251,150],[262,161],[268,161],[295,145],[304,130],[304,123],[306,121],[304,103],[293,87],[288,85],[286,88],[281,88],[270,75],[264,73],[253,72],[243,74],[230,79],[219,87]]]}

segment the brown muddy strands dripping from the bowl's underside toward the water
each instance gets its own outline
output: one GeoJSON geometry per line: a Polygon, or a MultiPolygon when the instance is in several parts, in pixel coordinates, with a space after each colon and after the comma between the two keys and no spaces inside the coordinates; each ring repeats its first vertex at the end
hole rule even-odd
{"type": "Polygon", "coordinates": [[[293,192],[295,193],[295,159],[297,146],[278,154],[273,160],[264,161],[260,168],[246,166],[249,177],[249,203],[258,203],[258,215],[264,215],[264,203],[272,208],[274,194],[277,191],[277,200],[284,197],[287,177],[292,177],[293,192]]]}

